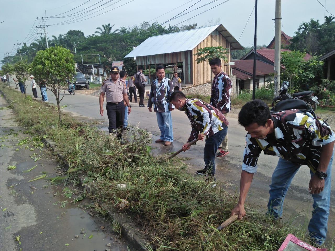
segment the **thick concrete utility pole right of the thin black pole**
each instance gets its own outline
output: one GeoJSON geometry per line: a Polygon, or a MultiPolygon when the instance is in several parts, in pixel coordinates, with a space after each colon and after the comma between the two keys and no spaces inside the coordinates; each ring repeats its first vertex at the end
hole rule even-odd
{"type": "MultiPolygon", "coordinates": [[[[274,90],[273,96],[276,97],[279,94],[280,89],[280,20],[281,0],[276,0],[276,15],[275,15],[275,28],[274,28],[274,90]]],[[[273,19],[272,19],[273,20],[273,19]]]]}

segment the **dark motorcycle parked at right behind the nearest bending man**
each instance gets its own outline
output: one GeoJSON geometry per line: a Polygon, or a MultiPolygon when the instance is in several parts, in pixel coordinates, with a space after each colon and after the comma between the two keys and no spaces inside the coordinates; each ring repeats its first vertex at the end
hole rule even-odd
{"type": "Polygon", "coordinates": [[[310,105],[313,109],[313,111],[316,110],[317,104],[319,104],[318,97],[314,96],[314,92],[312,91],[302,91],[302,92],[296,92],[293,93],[292,96],[287,92],[288,86],[290,84],[287,81],[283,81],[281,84],[280,90],[279,90],[279,96],[275,97],[272,100],[272,107],[278,103],[280,100],[284,99],[302,99],[304,100],[308,105],[310,105]]]}

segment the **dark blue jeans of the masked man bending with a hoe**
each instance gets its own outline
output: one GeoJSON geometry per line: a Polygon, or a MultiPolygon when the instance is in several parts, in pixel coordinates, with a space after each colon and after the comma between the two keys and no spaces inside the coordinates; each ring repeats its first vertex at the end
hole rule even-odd
{"type": "Polygon", "coordinates": [[[205,149],[204,149],[204,161],[205,168],[204,171],[209,171],[211,176],[215,174],[215,154],[217,148],[226,137],[228,127],[225,124],[222,124],[223,129],[213,134],[210,137],[206,137],[205,149]]]}

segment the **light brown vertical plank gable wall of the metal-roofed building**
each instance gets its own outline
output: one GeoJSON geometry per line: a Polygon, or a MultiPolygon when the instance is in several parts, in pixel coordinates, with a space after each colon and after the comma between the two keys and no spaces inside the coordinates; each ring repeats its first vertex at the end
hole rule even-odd
{"type": "MultiPolygon", "coordinates": [[[[192,77],[193,85],[203,84],[211,81],[211,69],[208,62],[202,62],[197,64],[195,60],[198,57],[193,56],[193,54],[195,54],[198,51],[198,49],[211,46],[222,46],[223,48],[228,48],[230,50],[230,44],[218,30],[214,30],[209,36],[207,36],[203,41],[201,41],[201,43],[192,50],[193,67],[191,72],[193,72],[192,77]]],[[[227,56],[227,62],[230,62],[229,51],[226,56],[227,56]]],[[[223,64],[224,62],[222,62],[222,70],[227,75],[230,75],[230,66],[224,66],[223,64]]]]}

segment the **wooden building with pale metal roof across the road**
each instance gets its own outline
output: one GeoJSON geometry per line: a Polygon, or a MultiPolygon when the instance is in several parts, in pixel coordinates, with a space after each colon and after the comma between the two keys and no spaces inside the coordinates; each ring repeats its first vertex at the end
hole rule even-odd
{"type": "MultiPolygon", "coordinates": [[[[152,65],[163,65],[178,71],[183,84],[197,85],[211,81],[211,69],[208,62],[197,64],[197,50],[205,47],[222,46],[227,48],[227,62],[230,50],[243,47],[222,25],[213,25],[191,30],[179,31],[147,38],[125,58],[136,57],[137,66],[143,69],[152,65]]],[[[229,75],[230,66],[222,62],[222,70],[229,75]]],[[[169,77],[169,76],[167,76],[169,77]]]]}

